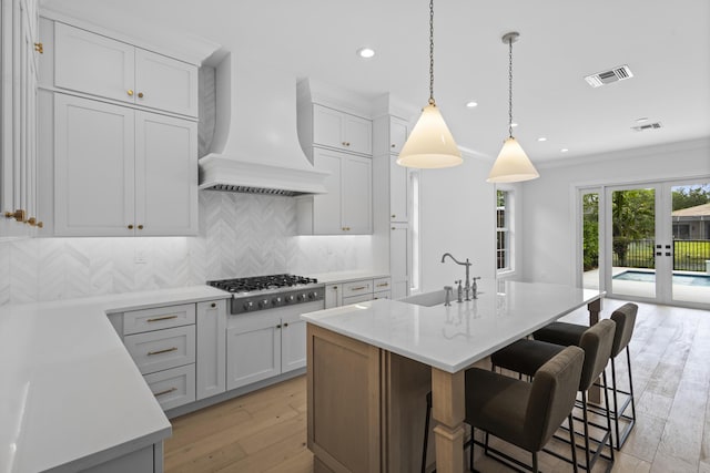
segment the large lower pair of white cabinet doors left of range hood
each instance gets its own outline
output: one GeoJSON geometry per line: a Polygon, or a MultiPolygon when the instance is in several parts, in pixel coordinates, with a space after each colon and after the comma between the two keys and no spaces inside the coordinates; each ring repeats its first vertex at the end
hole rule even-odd
{"type": "Polygon", "coordinates": [[[54,95],[54,234],[197,233],[196,123],[54,95]]]}

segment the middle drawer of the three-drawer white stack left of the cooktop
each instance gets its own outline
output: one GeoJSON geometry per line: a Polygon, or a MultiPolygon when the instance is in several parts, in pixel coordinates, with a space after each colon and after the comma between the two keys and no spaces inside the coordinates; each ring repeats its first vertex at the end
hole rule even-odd
{"type": "Polygon", "coordinates": [[[175,327],[123,338],[141,373],[195,362],[195,327],[175,327]]]}

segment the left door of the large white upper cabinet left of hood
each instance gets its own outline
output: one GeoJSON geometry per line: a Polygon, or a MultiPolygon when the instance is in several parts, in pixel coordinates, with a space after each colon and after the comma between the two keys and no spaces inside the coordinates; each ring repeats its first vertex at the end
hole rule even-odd
{"type": "Polygon", "coordinates": [[[54,94],[58,236],[133,234],[133,130],[131,109],[54,94]]]}

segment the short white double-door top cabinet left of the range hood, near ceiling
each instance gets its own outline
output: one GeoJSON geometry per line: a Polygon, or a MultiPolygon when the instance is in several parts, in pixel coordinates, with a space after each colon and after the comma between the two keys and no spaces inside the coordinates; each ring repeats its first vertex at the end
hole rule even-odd
{"type": "Polygon", "coordinates": [[[197,68],[54,23],[54,86],[197,116],[197,68]]]}

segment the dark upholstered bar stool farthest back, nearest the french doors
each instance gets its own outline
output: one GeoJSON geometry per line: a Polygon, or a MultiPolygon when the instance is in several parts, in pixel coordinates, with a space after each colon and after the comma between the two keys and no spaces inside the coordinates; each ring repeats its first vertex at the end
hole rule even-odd
{"type": "MultiPolygon", "coordinates": [[[[633,336],[633,327],[636,326],[636,316],[639,307],[636,304],[625,304],[611,313],[611,320],[617,325],[616,332],[613,335],[613,345],[611,346],[611,392],[613,397],[613,412],[611,412],[611,419],[615,424],[617,450],[621,449],[623,443],[631,433],[631,429],[636,424],[636,402],[633,400],[633,379],[631,377],[631,354],[629,351],[629,341],[633,336]],[[629,390],[621,390],[617,384],[617,368],[615,360],[618,354],[626,351],[627,372],[629,374],[629,390]],[[621,407],[619,407],[619,394],[626,395],[626,399],[621,407]],[[627,415],[626,411],[631,405],[631,415],[627,415]],[[620,421],[625,421],[626,425],[620,431],[620,421]]],[[[566,322],[552,322],[534,333],[536,340],[542,340],[550,343],[557,343],[562,346],[579,346],[581,335],[587,330],[587,327],[566,323],[566,322]]]]}

